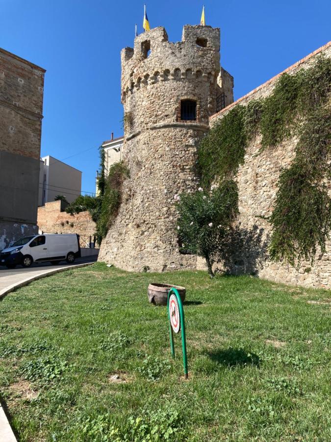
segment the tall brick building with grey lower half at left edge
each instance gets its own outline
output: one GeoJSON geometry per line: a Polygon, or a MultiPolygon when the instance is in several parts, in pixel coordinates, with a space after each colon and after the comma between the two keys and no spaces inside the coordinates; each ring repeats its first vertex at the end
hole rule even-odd
{"type": "Polygon", "coordinates": [[[45,72],[0,48],[0,249],[38,233],[45,72]]]}

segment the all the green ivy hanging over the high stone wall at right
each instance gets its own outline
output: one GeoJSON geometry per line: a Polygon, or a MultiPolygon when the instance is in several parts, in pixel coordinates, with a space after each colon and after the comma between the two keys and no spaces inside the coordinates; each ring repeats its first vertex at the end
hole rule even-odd
{"type": "Polygon", "coordinates": [[[262,148],[297,136],[293,164],[280,174],[272,224],[271,258],[294,265],[322,252],[331,227],[331,201],[323,184],[331,178],[331,59],[319,56],[307,69],[282,74],[272,93],[236,105],[215,124],[198,150],[201,183],[233,177],[248,142],[260,133],[262,148]]]}

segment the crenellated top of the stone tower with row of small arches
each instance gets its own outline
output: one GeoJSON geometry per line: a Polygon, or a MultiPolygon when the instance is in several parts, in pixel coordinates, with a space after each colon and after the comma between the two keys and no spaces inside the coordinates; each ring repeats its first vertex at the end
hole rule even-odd
{"type": "Polygon", "coordinates": [[[220,29],[210,26],[183,28],[182,40],[168,41],[163,27],[134,39],[134,48],[121,53],[122,99],[141,85],[158,81],[214,81],[220,70],[220,29]]]}

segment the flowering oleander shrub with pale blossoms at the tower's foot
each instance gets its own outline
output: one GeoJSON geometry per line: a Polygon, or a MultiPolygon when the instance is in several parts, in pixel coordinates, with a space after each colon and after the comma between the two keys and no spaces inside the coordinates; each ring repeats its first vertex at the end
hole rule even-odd
{"type": "Polygon", "coordinates": [[[180,251],[202,256],[213,277],[217,252],[239,213],[237,185],[225,180],[212,186],[210,192],[199,188],[194,193],[175,195],[175,199],[180,251]]]}

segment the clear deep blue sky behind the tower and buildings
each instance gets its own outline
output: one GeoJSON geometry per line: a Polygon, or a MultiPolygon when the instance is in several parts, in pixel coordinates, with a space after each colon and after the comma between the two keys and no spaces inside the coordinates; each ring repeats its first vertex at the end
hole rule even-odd
{"type": "MultiPolygon", "coordinates": [[[[170,41],[199,24],[200,1],[149,1],[151,28],[170,41]]],[[[221,64],[235,99],[331,40],[330,0],[208,1],[206,24],[221,28],[221,64]]],[[[0,47],[47,69],[41,154],[81,170],[95,191],[98,146],[122,134],[120,51],[142,31],[143,2],[0,0],[0,47]],[[87,149],[90,149],[86,151],[87,149]],[[71,158],[68,158],[71,157],[71,158]]]]}

